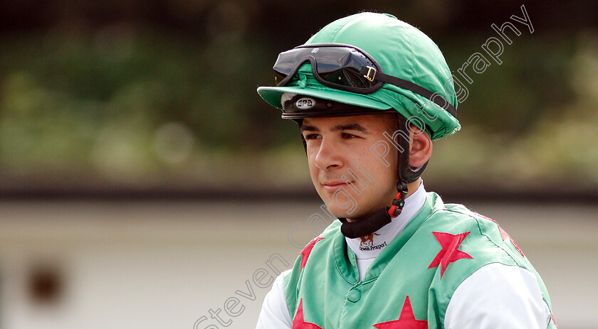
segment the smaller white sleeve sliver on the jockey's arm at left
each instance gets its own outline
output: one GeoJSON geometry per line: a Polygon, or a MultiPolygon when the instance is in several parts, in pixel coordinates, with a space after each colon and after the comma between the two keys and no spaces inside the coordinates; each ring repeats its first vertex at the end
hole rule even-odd
{"type": "Polygon", "coordinates": [[[274,281],[271,291],[263,300],[262,309],[256,329],[290,329],[293,320],[290,319],[285,297],[284,277],[290,270],[283,271],[274,281]]]}

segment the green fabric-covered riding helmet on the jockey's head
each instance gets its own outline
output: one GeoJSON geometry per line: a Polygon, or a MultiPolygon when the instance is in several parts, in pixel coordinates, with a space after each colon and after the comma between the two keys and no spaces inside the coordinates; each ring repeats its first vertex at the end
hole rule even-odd
{"type": "MultiPolygon", "coordinates": [[[[436,43],[414,26],[389,14],[360,13],[328,24],[307,43],[295,50],[302,50],[301,47],[309,47],[304,48],[309,51],[304,51],[305,54],[293,54],[295,58],[301,59],[301,56],[313,55],[313,61],[310,58],[303,58],[303,63],[297,63],[297,67],[293,68],[293,78],[287,79],[288,81],[283,84],[277,81],[279,83],[276,87],[258,87],[259,95],[274,107],[283,109],[281,97],[284,93],[290,93],[374,110],[394,109],[403,117],[410,119],[411,123],[426,131],[431,139],[439,139],[461,128],[456,114],[450,113],[456,112],[458,102],[449,66],[436,43]],[[323,45],[312,46],[320,44],[323,45]],[[326,83],[327,80],[331,80],[325,77],[329,73],[325,72],[328,70],[325,66],[329,63],[322,63],[322,68],[318,67],[316,70],[313,70],[313,65],[320,66],[320,61],[325,62],[326,58],[318,58],[318,53],[325,56],[325,50],[335,48],[333,47],[335,45],[349,45],[357,48],[357,51],[361,50],[367,57],[377,62],[378,73],[381,74],[380,71],[383,71],[385,75],[390,76],[389,82],[382,79],[387,83],[383,85],[379,83],[378,88],[361,86],[361,88],[348,88],[348,90],[339,88],[333,83],[326,83]],[[391,83],[395,82],[392,77],[402,80],[403,84],[392,85],[391,83]],[[421,92],[422,89],[425,91],[421,92]],[[445,100],[450,106],[444,104],[445,100]],[[453,111],[450,111],[449,107],[453,111]]],[[[283,58],[285,53],[280,54],[277,64],[288,60],[283,58]]],[[[293,55],[288,55],[287,58],[293,55]]],[[[374,67],[371,71],[368,71],[369,68],[364,68],[360,70],[361,72],[350,72],[351,68],[355,68],[355,56],[347,54],[340,56],[345,63],[338,63],[338,61],[334,63],[337,68],[344,70],[344,72],[337,72],[341,76],[339,80],[355,80],[355,77],[350,75],[359,74],[363,76],[362,80],[365,82],[367,82],[367,75],[378,80],[375,75],[372,76],[376,73],[376,65],[365,65],[374,67]]],[[[357,67],[359,70],[359,65],[357,67]]],[[[349,81],[344,85],[359,84],[360,82],[349,81]]]]}

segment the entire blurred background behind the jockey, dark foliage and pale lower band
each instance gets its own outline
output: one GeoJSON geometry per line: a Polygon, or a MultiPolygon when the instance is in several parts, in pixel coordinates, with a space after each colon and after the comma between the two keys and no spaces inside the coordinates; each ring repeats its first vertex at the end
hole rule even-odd
{"type": "Polygon", "coordinates": [[[1,1],[0,328],[251,328],[254,274],[323,213],[295,124],[256,87],[358,11],[417,26],[454,72],[491,24],[519,28],[503,63],[468,69],[426,188],[510,232],[561,328],[597,328],[598,3],[466,0],[1,1]]]}

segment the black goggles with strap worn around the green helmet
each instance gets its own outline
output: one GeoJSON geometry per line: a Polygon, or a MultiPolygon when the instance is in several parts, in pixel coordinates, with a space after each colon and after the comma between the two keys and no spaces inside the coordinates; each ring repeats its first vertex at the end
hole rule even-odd
{"type": "Polygon", "coordinates": [[[457,109],[441,95],[411,81],[382,72],[382,67],[364,50],[342,43],[300,45],[278,55],[274,64],[277,87],[288,85],[303,65],[310,62],[313,76],[326,87],[357,94],[372,94],[384,83],[416,93],[456,117],[457,109]]]}

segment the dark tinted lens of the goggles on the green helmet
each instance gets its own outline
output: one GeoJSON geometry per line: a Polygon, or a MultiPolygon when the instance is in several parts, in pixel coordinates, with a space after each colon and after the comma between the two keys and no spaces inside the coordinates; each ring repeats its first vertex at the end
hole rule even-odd
{"type": "Polygon", "coordinates": [[[377,84],[363,74],[368,67],[379,70],[373,60],[359,50],[338,46],[294,48],[280,53],[274,64],[276,85],[288,83],[289,75],[295,75],[300,66],[308,61],[312,64],[314,76],[332,85],[370,88],[377,84]]]}

